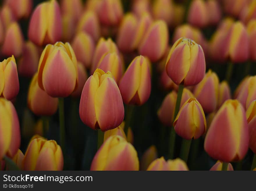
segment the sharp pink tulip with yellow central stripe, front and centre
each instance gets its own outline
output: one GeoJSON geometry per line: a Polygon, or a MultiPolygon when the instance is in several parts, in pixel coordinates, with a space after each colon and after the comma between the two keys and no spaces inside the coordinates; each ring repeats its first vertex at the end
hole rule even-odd
{"type": "Polygon", "coordinates": [[[81,94],[79,115],[92,129],[107,131],[124,119],[124,105],[111,72],[96,69],[86,81],[81,94]]]}

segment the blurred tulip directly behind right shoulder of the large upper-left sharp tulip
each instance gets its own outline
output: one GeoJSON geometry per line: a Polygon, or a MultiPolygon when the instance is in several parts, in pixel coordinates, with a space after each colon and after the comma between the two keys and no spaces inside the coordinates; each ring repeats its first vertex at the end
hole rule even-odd
{"type": "Polygon", "coordinates": [[[72,48],[77,57],[77,61],[81,62],[84,67],[89,68],[93,59],[95,43],[93,39],[85,32],[79,32],[72,42],[72,48]]]}

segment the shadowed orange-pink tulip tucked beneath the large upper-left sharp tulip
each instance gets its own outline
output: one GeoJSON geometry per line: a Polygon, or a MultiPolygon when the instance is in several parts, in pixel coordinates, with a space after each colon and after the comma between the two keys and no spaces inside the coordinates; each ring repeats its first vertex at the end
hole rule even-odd
{"type": "Polygon", "coordinates": [[[36,73],[29,85],[28,107],[39,116],[51,116],[56,113],[58,108],[58,98],[49,96],[38,85],[38,73],[36,73]]]}

